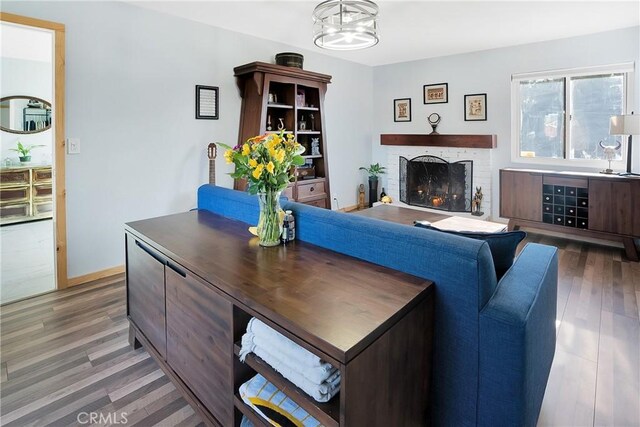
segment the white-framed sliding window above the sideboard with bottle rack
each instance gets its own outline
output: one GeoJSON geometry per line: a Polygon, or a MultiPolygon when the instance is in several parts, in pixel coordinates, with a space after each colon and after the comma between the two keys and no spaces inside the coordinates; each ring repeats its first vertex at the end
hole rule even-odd
{"type": "MultiPolygon", "coordinates": [[[[600,166],[600,141],[626,142],[609,135],[609,119],[627,110],[631,72],[633,64],[514,75],[513,160],[600,166]]],[[[623,164],[625,157],[621,147],[613,160],[623,164]]]]}

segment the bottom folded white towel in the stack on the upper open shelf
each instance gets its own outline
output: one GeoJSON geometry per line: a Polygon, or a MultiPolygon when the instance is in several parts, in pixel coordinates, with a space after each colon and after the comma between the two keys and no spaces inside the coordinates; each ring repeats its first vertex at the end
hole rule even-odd
{"type": "Polygon", "coordinates": [[[305,377],[303,372],[296,370],[262,347],[254,345],[253,353],[318,402],[328,402],[340,391],[341,378],[340,371],[337,369],[322,384],[314,384],[305,377]]]}

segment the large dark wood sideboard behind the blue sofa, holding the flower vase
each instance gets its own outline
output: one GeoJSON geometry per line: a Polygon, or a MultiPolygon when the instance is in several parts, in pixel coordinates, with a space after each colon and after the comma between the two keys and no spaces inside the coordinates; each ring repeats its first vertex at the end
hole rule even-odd
{"type": "Polygon", "coordinates": [[[301,241],[262,248],[207,211],[129,223],[125,246],[130,342],[206,424],[267,425],[238,395],[256,373],[326,426],[428,424],[431,282],[301,241]],[[340,393],[317,403],[258,357],[241,363],[251,317],[339,367],[340,393]]]}

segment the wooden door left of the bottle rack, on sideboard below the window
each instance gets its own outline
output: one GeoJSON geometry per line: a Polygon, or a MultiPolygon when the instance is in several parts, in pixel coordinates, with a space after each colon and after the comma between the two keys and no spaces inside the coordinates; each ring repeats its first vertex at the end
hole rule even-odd
{"type": "Polygon", "coordinates": [[[542,221],[542,175],[501,170],[500,216],[542,221]]]}

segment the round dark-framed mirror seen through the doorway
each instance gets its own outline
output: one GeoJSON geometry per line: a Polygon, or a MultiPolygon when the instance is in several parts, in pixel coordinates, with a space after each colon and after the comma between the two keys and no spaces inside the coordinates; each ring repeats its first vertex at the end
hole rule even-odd
{"type": "Polygon", "coordinates": [[[11,133],[38,133],[51,128],[51,103],[33,96],[0,99],[0,129],[11,133]]]}

